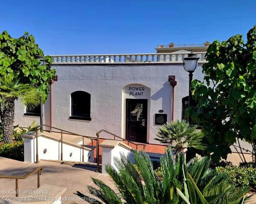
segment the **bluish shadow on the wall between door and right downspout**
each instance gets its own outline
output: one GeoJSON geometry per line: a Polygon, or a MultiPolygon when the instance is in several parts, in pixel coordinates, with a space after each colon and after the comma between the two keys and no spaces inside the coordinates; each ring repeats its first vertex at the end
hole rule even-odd
{"type": "MultiPolygon", "coordinates": [[[[152,100],[158,100],[162,98],[162,107],[159,107],[158,110],[162,109],[167,114],[167,121],[171,119],[172,114],[172,97],[173,97],[173,89],[170,86],[169,82],[165,82],[163,87],[158,90],[154,95],[151,96],[152,100]]],[[[155,125],[155,116],[154,116],[154,125],[155,125]]],[[[159,126],[159,125],[157,125],[159,126]]]]}

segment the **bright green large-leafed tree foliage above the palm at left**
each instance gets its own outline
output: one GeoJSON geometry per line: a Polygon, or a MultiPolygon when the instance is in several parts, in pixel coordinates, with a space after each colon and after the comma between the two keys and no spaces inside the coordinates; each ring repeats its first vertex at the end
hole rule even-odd
{"type": "Polygon", "coordinates": [[[45,64],[40,64],[38,56],[44,56],[44,53],[27,32],[19,38],[12,38],[7,31],[0,34],[0,77],[14,73],[22,83],[36,86],[45,101],[56,71],[50,69],[50,56],[44,57],[45,64]]]}

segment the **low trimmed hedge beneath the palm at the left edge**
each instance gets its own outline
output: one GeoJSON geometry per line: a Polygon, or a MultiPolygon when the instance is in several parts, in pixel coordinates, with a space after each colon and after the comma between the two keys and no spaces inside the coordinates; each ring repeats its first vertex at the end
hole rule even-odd
{"type": "Polygon", "coordinates": [[[3,144],[0,147],[0,156],[18,161],[24,161],[24,141],[3,144]]]}

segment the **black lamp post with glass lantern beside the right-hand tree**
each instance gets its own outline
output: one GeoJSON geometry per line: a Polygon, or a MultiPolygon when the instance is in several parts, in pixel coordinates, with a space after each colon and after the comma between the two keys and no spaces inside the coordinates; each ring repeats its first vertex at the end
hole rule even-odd
{"type": "MultiPolygon", "coordinates": [[[[189,73],[188,74],[188,76],[189,76],[188,107],[191,106],[191,102],[192,102],[192,94],[191,94],[190,88],[191,88],[191,82],[193,79],[193,72],[197,68],[198,60],[199,60],[199,58],[194,53],[189,53],[188,56],[186,58],[184,58],[184,60],[183,60],[183,67],[189,73]]],[[[190,116],[188,118],[188,122],[191,124],[190,116]]]]}

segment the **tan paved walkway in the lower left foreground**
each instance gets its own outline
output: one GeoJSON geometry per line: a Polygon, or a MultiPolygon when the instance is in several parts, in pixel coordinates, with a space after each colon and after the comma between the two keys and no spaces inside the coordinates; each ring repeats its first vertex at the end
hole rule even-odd
{"type": "MultiPolygon", "coordinates": [[[[42,174],[40,176],[40,184],[49,184],[53,186],[66,187],[67,191],[63,194],[63,198],[76,199],[78,196],[76,191],[87,192],[87,186],[93,185],[91,177],[100,179],[106,184],[113,186],[107,175],[96,173],[95,169],[83,166],[72,166],[68,164],[60,164],[56,162],[40,161],[39,164],[31,164],[19,162],[7,158],[0,157],[0,174],[1,175],[25,175],[33,169],[42,166],[42,174]]],[[[37,188],[37,173],[29,176],[25,180],[19,180],[18,186],[20,190],[34,190],[37,188]]],[[[15,179],[0,179],[0,199],[3,196],[15,197],[15,194],[6,194],[6,191],[15,190],[15,179]]],[[[86,193],[88,194],[88,193],[86,193]]],[[[19,195],[20,196],[20,195],[19,195]]],[[[85,201],[76,200],[77,203],[87,203],[85,201]]],[[[70,200],[62,201],[62,203],[72,203],[70,200]]]]}

